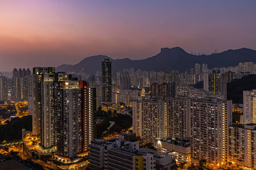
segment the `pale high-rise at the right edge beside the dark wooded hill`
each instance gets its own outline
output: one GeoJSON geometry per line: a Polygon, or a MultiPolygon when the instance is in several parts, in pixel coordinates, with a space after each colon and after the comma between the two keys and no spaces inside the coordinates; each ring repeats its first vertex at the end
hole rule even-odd
{"type": "Polygon", "coordinates": [[[243,91],[244,124],[256,124],[256,90],[243,91]]]}

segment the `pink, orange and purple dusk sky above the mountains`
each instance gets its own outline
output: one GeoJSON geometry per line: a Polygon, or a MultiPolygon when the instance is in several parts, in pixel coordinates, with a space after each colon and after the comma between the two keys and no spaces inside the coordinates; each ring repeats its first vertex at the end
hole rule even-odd
{"type": "Polygon", "coordinates": [[[255,9],[255,0],[0,0],[0,71],[144,59],[161,47],[256,50],[255,9]]]}

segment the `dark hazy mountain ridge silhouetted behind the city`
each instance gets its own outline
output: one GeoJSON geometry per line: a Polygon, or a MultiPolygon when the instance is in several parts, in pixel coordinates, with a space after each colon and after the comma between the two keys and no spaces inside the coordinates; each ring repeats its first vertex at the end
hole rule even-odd
{"type": "Polygon", "coordinates": [[[238,50],[227,50],[221,53],[212,53],[211,55],[193,55],[185,52],[180,47],[161,48],[161,52],[153,57],[142,60],[131,59],[111,59],[105,55],[95,55],[86,57],[78,64],[63,64],[57,67],[57,71],[84,71],[94,74],[101,70],[101,61],[110,59],[112,62],[112,70],[122,71],[127,68],[141,69],[145,71],[185,71],[189,67],[194,67],[195,63],[208,64],[212,67],[228,67],[237,66],[239,62],[256,62],[256,51],[249,48],[240,48],[238,50]]]}

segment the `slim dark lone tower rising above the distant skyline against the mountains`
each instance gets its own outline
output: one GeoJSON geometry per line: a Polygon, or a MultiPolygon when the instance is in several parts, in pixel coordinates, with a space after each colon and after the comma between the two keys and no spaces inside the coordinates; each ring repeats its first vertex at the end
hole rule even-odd
{"type": "Polygon", "coordinates": [[[111,61],[105,59],[101,63],[102,69],[102,102],[111,103],[112,79],[111,79],[111,61]]]}

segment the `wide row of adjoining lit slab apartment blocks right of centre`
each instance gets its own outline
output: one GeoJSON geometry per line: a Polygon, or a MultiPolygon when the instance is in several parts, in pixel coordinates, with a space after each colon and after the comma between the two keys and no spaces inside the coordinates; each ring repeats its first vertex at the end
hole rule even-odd
{"type": "MultiPolygon", "coordinates": [[[[144,97],[132,103],[132,128],[143,143],[156,138],[191,138],[191,158],[212,164],[228,160],[232,101],[216,98],[144,97]],[[162,137],[159,137],[162,136],[162,137]]],[[[195,161],[196,162],[196,161],[195,161]]]]}

